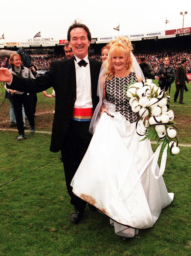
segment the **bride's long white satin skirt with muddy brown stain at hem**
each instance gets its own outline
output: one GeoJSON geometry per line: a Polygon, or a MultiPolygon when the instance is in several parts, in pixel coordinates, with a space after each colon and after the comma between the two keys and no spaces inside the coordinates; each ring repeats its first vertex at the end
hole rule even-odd
{"type": "MultiPolygon", "coordinates": [[[[174,194],[167,192],[162,176],[155,178],[158,164],[155,175],[152,161],[147,166],[153,155],[150,141],[140,141],[135,123],[119,112],[111,115],[101,115],[71,186],[75,195],[110,218],[117,235],[133,237],[155,224],[174,194]]],[[[137,130],[144,131],[141,121],[137,130]]]]}

